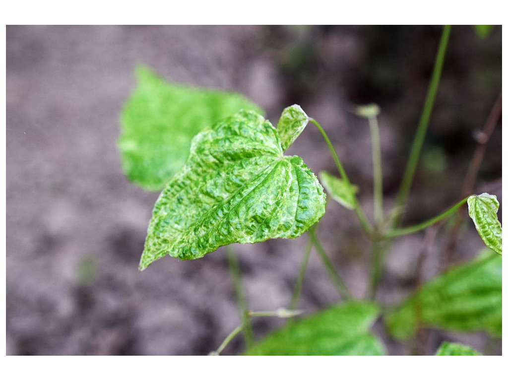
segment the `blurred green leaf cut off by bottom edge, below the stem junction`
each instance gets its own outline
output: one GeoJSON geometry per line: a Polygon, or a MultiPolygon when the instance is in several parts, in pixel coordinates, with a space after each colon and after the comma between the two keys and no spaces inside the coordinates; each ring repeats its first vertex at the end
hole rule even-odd
{"type": "Polygon", "coordinates": [[[383,356],[382,342],[370,333],[379,308],[348,302],[289,322],[253,345],[251,356],[383,356]]]}

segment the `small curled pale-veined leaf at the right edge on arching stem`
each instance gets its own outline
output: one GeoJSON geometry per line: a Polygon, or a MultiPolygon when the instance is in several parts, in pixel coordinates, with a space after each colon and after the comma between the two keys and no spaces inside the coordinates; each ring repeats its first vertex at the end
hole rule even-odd
{"type": "Polygon", "coordinates": [[[502,229],[497,219],[499,202],[496,196],[488,193],[470,196],[467,199],[467,207],[469,217],[473,220],[485,245],[502,255],[502,229]]]}

